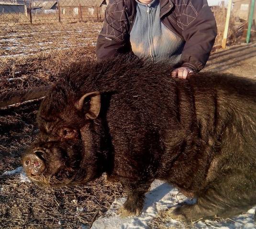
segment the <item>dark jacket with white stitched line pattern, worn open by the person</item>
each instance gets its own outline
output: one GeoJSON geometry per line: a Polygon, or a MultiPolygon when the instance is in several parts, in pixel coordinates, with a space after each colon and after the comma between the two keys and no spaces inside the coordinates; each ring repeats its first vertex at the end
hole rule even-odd
{"type": "MultiPolygon", "coordinates": [[[[98,61],[131,52],[129,41],[136,16],[135,0],[110,0],[97,41],[98,61]]],[[[160,18],[185,40],[180,66],[200,71],[217,35],[216,21],[207,0],[160,0],[160,18]]]]}

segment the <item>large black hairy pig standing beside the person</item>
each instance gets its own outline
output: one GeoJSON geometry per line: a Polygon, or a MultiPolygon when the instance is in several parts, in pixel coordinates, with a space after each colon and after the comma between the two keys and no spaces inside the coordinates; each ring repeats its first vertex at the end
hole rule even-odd
{"type": "Polygon", "coordinates": [[[38,141],[22,158],[28,177],[65,186],[105,172],[128,194],[122,216],[141,213],[156,178],[197,198],[172,218],[228,218],[256,205],[256,81],[171,71],[132,57],[69,67],[38,112],[38,141]]]}

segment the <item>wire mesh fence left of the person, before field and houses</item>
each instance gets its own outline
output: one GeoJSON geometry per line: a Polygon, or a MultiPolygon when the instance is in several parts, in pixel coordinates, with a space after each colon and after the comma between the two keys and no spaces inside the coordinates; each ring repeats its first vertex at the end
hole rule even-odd
{"type": "Polygon", "coordinates": [[[95,46],[106,0],[0,0],[0,57],[95,46]]]}

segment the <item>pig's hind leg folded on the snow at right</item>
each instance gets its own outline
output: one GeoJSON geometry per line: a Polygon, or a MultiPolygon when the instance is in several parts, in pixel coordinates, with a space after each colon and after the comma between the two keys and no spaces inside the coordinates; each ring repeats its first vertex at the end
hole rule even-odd
{"type": "Polygon", "coordinates": [[[243,174],[219,177],[198,197],[194,205],[171,208],[167,214],[180,221],[197,221],[214,217],[230,218],[256,204],[256,184],[243,174]]]}

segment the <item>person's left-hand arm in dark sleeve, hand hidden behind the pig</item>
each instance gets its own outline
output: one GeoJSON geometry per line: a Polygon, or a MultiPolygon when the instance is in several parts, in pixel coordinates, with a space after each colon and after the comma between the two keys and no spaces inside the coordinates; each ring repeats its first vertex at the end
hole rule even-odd
{"type": "Polygon", "coordinates": [[[130,51],[128,19],[122,0],[110,0],[103,28],[96,46],[97,60],[108,59],[130,51]]]}

